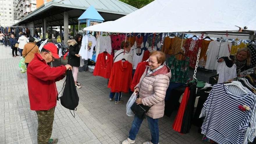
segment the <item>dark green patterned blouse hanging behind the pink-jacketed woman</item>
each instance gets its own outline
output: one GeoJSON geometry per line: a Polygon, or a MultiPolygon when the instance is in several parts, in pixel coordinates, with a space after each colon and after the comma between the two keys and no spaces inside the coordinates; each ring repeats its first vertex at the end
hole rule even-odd
{"type": "Polygon", "coordinates": [[[184,60],[179,61],[175,56],[171,56],[167,60],[167,66],[170,67],[172,72],[171,82],[186,83],[189,79],[189,58],[185,57],[184,60]]]}

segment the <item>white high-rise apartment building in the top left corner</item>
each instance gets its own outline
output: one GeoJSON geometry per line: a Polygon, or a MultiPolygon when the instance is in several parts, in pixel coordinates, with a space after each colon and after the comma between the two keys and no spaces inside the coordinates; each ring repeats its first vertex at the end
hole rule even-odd
{"type": "Polygon", "coordinates": [[[13,0],[0,0],[0,26],[13,24],[13,0]]]}

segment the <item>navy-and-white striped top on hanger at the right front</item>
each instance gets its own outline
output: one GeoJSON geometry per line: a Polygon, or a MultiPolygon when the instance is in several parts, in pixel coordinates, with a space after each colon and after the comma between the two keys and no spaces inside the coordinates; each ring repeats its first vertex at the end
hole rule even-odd
{"type": "Polygon", "coordinates": [[[249,89],[243,95],[235,95],[223,84],[213,86],[200,118],[205,116],[202,134],[220,144],[242,144],[249,126],[254,97],[249,89]],[[241,111],[239,105],[247,105],[250,111],[241,111]]]}

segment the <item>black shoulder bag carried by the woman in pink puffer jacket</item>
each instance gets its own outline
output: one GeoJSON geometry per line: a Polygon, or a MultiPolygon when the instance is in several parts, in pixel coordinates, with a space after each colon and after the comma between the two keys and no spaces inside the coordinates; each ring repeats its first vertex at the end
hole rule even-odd
{"type": "MultiPolygon", "coordinates": [[[[148,70],[148,69],[147,69],[148,70]]],[[[147,73],[146,73],[147,75],[147,73]]],[[[144,77],[145,78],[145,77],[144,77]]],[[[144,79],[143,78],[143,79],[144,79]]],[[[140,89],[141,89],[141,84],[140,84],[140,89]]],[[[140,90],[139,90],[140,91],[140,90]]],[[[139,98],[139,91],[138,91],[138,96],[137,98],[139,98]]],[[[134,102],[134,104],[132,104],[131,106],[131,111],[140,119],[144,119],[146,118],[146,113],[147,111],[150,109],[151,106],[145,106],[143,104],[136,104],[136,102],[134,102]]]]}

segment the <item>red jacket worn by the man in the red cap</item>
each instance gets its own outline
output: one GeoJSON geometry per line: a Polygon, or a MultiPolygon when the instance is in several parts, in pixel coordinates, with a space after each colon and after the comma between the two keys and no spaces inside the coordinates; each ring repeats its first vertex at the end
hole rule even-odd
{"type": "Polygon", "coordinates": [[[63,79],[66,67],[50,67],[40,54],[35,54],[27,69],[30,109],[49,110],[56,106],[56,81],[63,79]]]}

